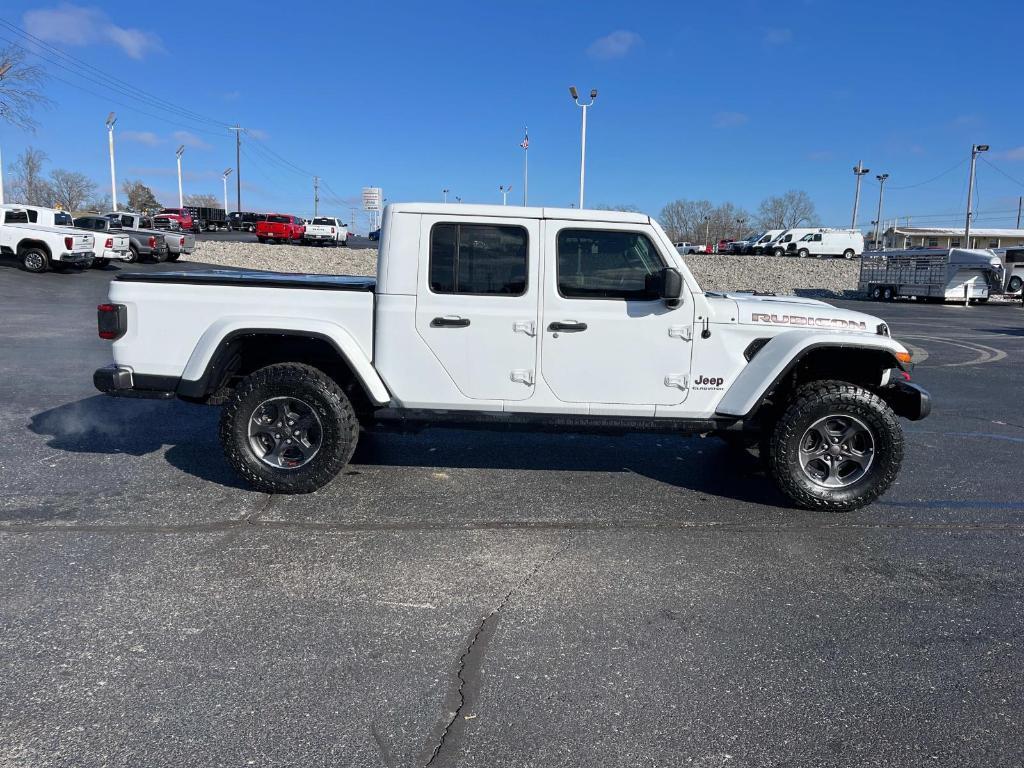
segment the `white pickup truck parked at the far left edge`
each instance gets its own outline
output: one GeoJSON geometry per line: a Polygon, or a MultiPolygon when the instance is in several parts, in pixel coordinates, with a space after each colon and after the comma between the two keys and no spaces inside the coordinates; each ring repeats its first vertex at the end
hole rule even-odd
{"type": "Polygon", "coordinates": [[[22,206],[4,206],[0,214],[0,253],[16,256],[27,271],[60,271],[71,264],[92,263],[95,239],[88,232],[63,223],[32,223],[32,214],[22,206]]]}

